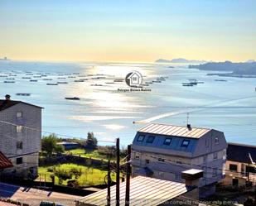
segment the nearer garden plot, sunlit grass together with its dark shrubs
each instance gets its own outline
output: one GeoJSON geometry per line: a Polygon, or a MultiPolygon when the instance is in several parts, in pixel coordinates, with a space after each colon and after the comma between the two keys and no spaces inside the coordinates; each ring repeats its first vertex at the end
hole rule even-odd
{"type": "MultiPolygon", "coordinates": [[[[106,170],[75,164],[42,166],[39,167],[38,172],[41,174],[41,180],[46,178],[46,181],[51,181],[51,176],[53,175],[55,176],[56,184],[68,185],[73,182],[77,184],[76,186],[105,184],[104,179],[108,173],[106,170]]],[[[111,178],[115,179],[114,173],[111,178]]],[[[40,180],[40,177],[37,180],[40,180]]]]}

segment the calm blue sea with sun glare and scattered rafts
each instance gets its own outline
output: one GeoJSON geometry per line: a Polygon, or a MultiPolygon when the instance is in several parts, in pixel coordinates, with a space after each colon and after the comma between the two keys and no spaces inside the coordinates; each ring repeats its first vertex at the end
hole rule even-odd
{"type": "Polygon", "coordinates": [[[120,138],[124,147],[151,122],[190,123],[224,132],[227,141],[256,145],[256,80],[208,73],[179,64],[1,60],[0,97],[8,93],[41,106],[42,136],[94,132],[99,145],[120,138]],[[142,74],[141,89],[130,91],[126,84],[132,71],[142,74]],[[191,81],[200,84],[182,85],[191,81]],[[47,85],[57,82],[65,84],[47,85]],[[65,99],[73,97],[80,100],[65,99]]]}

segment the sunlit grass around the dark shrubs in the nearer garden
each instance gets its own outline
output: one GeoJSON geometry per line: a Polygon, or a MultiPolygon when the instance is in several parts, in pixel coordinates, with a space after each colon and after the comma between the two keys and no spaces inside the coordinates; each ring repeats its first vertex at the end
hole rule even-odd
{"type": "MultiPolygon", "coordinates": [[[[72,168],[81,169],[82,175],[77,179],[80,186],[89,186],[95,184],[104,184],[104,177],[107,175],[107,171],[94,169],[92,167],[84,166],[84,165],[75,165],[75,164],[62,164],[56,165],[56,167],[60,167],[61,170],[70,171],[72,168]]],[[[54,173],[49,171],[48,169],[53,169],[53,166],[41,166],[38,169],[38,173],[41,175],[41,180],[51,181],[51,175],[54,173]]],[[[115,180],[115,175],[111,174],[112,180],[115,180]]],[[[37,178],[40,180],[40,177],[37,178]]],[[[59,180],[55,177],[56,184],[59,184],[59,180]]],[[[75,176],[73,175],[72,179],[75,180],[75,176]]],[[[68,180],[63,181],[63,185],[67,184],[68,180]]]]}

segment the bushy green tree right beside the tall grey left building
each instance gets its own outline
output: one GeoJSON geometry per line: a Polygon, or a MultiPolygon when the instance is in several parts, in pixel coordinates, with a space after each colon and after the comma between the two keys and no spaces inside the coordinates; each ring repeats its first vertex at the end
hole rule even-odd
{"type": "Polygon", "coordinates": [[[56,134],[51,134],[41,139],[41,150],[46,151],[48,156],[52,156],[53,152],[63,152],[63,146],[57,145],[58,137],[56,134]]]}

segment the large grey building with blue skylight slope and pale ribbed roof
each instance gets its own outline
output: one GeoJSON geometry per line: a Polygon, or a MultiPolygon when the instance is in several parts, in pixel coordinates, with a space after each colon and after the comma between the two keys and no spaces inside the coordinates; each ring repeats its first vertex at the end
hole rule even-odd
{"type": "Polygon", "coordinates": [[[133,175],[184,182],[181,172],[204,170],[200,186],[225,177],[227,143],[223,132],[152,123],[138,130],[132,145],[133,175]]]}

